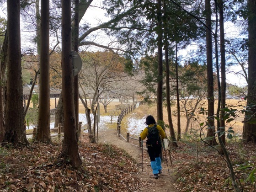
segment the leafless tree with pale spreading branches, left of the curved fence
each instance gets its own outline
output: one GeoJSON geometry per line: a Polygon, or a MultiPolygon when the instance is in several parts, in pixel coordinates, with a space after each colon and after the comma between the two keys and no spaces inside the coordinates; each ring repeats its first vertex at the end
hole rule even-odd
{"type": "MultiPolygon", "coordinates": [[[[87,101],[84,101],[83,104],[86,112],[89,112],[90,108],[93,115],[93,126],[88,123],[88,130],[89,137],[94,142],[98,97],[104,93],[117,94],[116,84],[123,81],[123,78],[128,75],[123,72],[123,58],[112,51],[96,53],[83,52],[81,55],[85,60],[83,68],[86,70],[83,70],[80,74],[80,88],[83,92],[83,98],[91,98],[90,106],[87,101]]],[[[86,117],[88,121],[90,114],[86,114],[86,117]]]]}

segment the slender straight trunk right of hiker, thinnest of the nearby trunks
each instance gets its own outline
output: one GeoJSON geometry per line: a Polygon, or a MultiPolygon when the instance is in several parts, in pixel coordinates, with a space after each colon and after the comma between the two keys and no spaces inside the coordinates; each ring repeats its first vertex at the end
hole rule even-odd
{"type": "Polygon", "coordinates": [[[176,43],[176,99],[177,99],[177,139],[181,139],[181,106],[180,106],[180,93],[179,93],[179,75],[178,75],[178,48],[176,43]]]}

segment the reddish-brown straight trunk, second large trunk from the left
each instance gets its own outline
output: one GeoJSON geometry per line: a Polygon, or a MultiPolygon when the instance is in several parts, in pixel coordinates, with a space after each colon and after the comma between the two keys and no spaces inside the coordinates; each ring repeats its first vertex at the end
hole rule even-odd
{"type": "Polygon", "coordinates": [[[50,1],[41,1],[40,25],[40,89],[38,109],[38,129],[36,139],[43,143],[51,142],[50,134],[50,67],[49,67],[49,18],[50,1]]]}

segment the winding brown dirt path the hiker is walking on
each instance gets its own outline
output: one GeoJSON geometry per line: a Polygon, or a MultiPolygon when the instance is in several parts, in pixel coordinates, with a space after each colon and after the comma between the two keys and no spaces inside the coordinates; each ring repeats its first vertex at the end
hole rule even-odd
{"type": "MultiPolygon", "coordinates": [[[[98,135],[99,143],[108,143],[117,145],[117,147],[126,150],[134,160],[137,161],[138,169],[139,169],[139,177],[141,177],[142,181],[149,181],[150,186],[141,185],[141,192],[176,192],[174,189],[174,176],[172,176],[172,170],[170,162],[168,161],[169,171],[166,165],[166,161],[162,162],[163,173],[159,174],[159,179],[155,179],[152,174],[152,170],[150,167],[150,160],[147,154],[147,151],[143,152],[143,171],[142,171],[142,150],[130,143],[127,143],[123,139],[120,139],[117,136],[116,130],[112,129],[104,129],[98,135]]],[[[164,158],[165,159],[165,158],[164,158]]]]}

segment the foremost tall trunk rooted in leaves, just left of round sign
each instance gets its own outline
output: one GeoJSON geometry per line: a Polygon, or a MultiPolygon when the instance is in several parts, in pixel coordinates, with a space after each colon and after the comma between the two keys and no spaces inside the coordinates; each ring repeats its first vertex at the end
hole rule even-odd
{"type": "Polygon", "coordinates": [[[60,154],[70,162],[73,168],[80,169],[82,161],[78,153],[78,142],[75,125],[75,104],[73,93],[73,67],[71,62],[71,1],[61,0],[62,8],[62,93],[64,108],[64,139],[60,154]]]}

